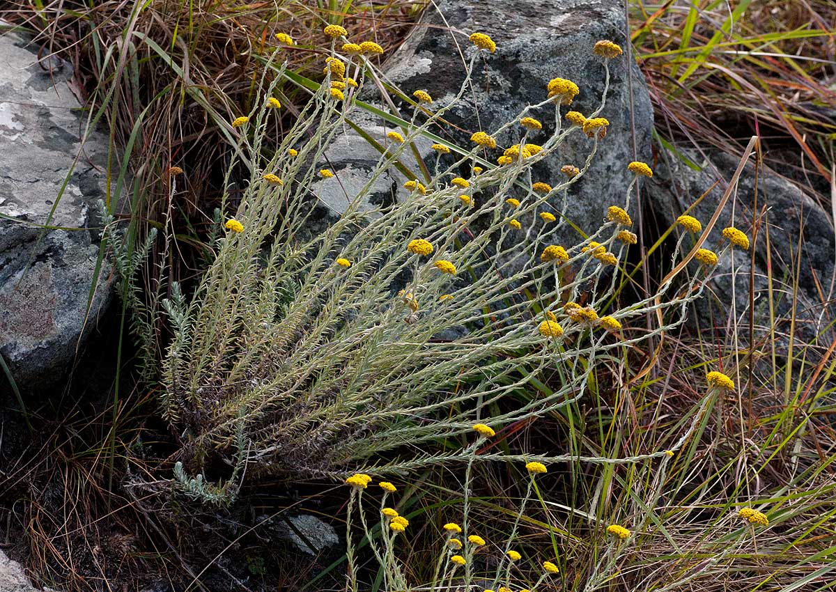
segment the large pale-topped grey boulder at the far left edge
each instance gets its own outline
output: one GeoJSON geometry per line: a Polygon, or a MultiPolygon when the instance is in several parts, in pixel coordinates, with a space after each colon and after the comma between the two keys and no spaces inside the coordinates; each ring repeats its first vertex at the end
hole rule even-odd
{"type": "Polygon", "coordinates": [[[36,52],[16,34],[0,37],[0,354],[27,391],[64,376],[110,294],[104,264],[87,314],[108,140],[94,134],[74,164],[86,118],[72,69],[36,52]]]}

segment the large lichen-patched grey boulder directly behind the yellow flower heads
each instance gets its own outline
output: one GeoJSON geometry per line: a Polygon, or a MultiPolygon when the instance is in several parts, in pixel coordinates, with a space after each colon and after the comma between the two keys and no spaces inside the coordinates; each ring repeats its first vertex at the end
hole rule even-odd
{"type": "MultiPolygon", "coordinates": [[[[445,116],[461,130],[456,131],[450,125],[434,130],[456,145],[469,146],[472,132],[492,133],[517,117],[526,105],[545,100],[548,80],[555,77],[578,84],[580,94],[571,108],[591,113],[599,106],[604,90],[604,65],[593,54],[594,44],[600,39],[610,39],[626,47],[624,31],[624,7],[619,0],[521,0],[504,4],[488,0],[467,3],[444,0],[438,3],[438,9],[433,6],[426,9],[421,23],[405,43],[385,59],[383,69],[385,79],[397,84],[405,94],[426,89],[434,99],[433,109],[445,107],[465,79],[466,59],[462,53],[468,54],[466,50],[471,45],[468,35],[474,32],[491,35],[497,43],[496,53],[481,53],[473,73],[472,90],[467,90],[445,116]]],[[[636,160],[634,142],[638,160],[650,158],[653,110],[645,80],[635,65],[630,69],[626,55],[612,60],[609,68],[609,93],[601,112],[610,122],[609,133],[587,175],[569,193],[572,206],[568,217],[584,232],[600,226],[609,205],[623,205],[625,189],[632,178],[626,166],[636,160]]],[[[367,82],[361,98],[389,110],[373,86],[367,82]]],[[[400,115],[409,120],[411,107],[404,103],[399,108],[400,115]]],[[[564,107],[563,113],[566,110],[564,107]]],[[[553,131],[553,108],[547,106],[531,115],[541,118],[545,127],[543,132],[529,137],[529,142],[538,143],[553,131]]],[[[370,116],[364,124],[381,125],[381,121],[370,116]]],[[[499,145],[507,147],[517,143],[518,133],[519,127],[513,126],[497,138],[499,145]]],[[[378,135],[382,137],[384,133],[378,135]]],[[[354,176],[367,176],[379,157],[377,152],[367,154],[364,148],[367,145],[366,140],[347,130],[329,149],[329,164],[338,176],[344,175],[349,181],[354,176]]],[[[563,144],[558,158],[549,158],[535,167],[533,181],[556,184],[563,179],[561,166],[583,166],[590,145],[591,140],[581,134],[574,135],[563,144]]],[[[430,152],[428,146],[421,145],[420,149],[424,156],[430,152]]],[[[492,152],[496,152],[492,158],[502,154],[492,152]]],[[[469,171],[461,174],[468,176],[469,171]]],[[[405,180],[405,177],[387,177],[375,191],[388,193],[388,199],[405,196],[402,187],[405,180]]],[[[332,212],[341,212],[339,203],[347,202],[343,185],[337,179],[320,181],[314,186],[314,192],[332,212]]],[[[378,193],[373,196],[373,202],[386,198],[378,193]]],[[[556,241],[572,243],[579,239],[575,232],[572,236],[555,237],[556,241]]]]}

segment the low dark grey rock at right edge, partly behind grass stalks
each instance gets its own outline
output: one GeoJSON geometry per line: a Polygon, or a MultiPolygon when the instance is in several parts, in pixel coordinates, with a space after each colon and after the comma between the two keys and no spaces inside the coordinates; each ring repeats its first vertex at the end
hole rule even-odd
{"type": "MultiPolygon", "coordinates": [[[[648,188],[650,209],[657,217],[657,227],[669,227],[676,217],[696,202],[715,181],[720,181],[691,212],[703,223],[707,222],[716,212],[721,196],[739,162],[739,159],[716,151],[708,152],[705,157],[687,151],[682,154],[692,165],[698,166],[699,170],[688,166],[674,153],[660,148],[660,162],[655,167],[653,179],[645,184],[648,188]]],[[[750,161],[742,171],[737,191],[732,193],[717,219],[716,227],[711,230],[704,244],[705,248],[723,248],[727,242],[721,236],[721,231],[724,227],[732,225],[746,232],[751,239],[752,222],[756,213],[755,183],[756,171],[750,161]]],[[[836,257],[830,216],[797,185],[769,169],[765,169],[757,177],[757,211],[762,211],[762,208],[766,208],[766,220],[769,224],[775,315],[777,319],[784,319],[775,327],[779,339],[780,335],[787,335],[789,332],[786,319],[793,307],[793,277],[799,252],[801,265],[798,273],[798,298],[795,303],[798,317],[796,329],[805,339],[816,339],[817,335],[818,339],[822,339],[820,333],[833,319],[830,304],[826,304],[833,297],[833,261],[836,257]]],[[[703,299],[696,307],[696,320],[701,325],[711,325],[709,306],[714,307],[714,323],[725,325],[734,293],[737,318],[742,319],[742,324],[747,326],[751,257],[751,252],[736,248],[732,251],[732,256],[726,254],[720,259],[711,280],[712,289],[718,298],[703,299]],[[732,264],[736,269],[733,287],[732,264]]],[[[756,333],[765,335],[770,329],[770,317],[767,299],[767,242],[763,224],[760,235],[754,242],[754,258],[754,319],[756,333]]],[[[745,335],[740,336],[745,338],[745,335]]],[[[828,339],[826,335],[824,339],[828,339]]]]}

